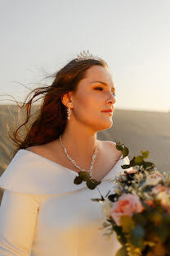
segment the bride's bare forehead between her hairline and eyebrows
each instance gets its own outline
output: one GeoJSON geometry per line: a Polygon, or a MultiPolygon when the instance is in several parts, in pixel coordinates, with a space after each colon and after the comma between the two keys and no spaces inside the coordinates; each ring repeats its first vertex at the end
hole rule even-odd
{"type": "Polygon", "coordinates": [[[103,66],[91,66],[87,71],[85,75],[85,80],[89,83],[95,80],[101,80],[105,83],[114,85],[113,83],[113,77],[110,73],[110,70],[106,69],[103,66]]]}

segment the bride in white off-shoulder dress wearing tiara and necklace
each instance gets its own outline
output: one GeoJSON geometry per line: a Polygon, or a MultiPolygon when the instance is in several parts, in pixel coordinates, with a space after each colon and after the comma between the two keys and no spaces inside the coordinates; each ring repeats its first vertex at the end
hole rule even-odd
{"type": "Polygon", "coordinates": [[[97,187],[103,195],[113,190],[110,178],[129,162],[114,142],[96,139],[113,124],[114,93],[109,67],[89,53],[34,90],[34,97],[45,94],[41,112],[24,140],[14,133],[17,153],[0,178],[0,256],[116,254],[119,241],[106,240],[101,204],[91,200],[99,198],[97,187]],[[75,185],[79,171],[101,183],[94,190],[75,185]]]}

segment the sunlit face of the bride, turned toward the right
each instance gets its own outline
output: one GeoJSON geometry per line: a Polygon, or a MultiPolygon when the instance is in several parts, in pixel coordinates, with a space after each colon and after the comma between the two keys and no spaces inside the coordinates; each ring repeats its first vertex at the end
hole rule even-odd
{"type": "Polygon", "coordinates": [[[72,94],[73,118],[95,132],[110,128],[113,124],[114,93],[110,71],[102,66],[90,67],[72,94]],[[106,109],[111,109],[112,114],[103,112],[106,109]]]}

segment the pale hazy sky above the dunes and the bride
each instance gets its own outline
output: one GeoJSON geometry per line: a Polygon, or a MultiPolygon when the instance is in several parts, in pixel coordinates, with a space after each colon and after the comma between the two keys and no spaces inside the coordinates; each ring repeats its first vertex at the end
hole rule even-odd
{"type": "Polygon", "coordinates": [[[110,66],[115,107],[168,111],[169,31],[169,0],[0,0],[0,94],[24,100],[12,81],[33,89],[89,49],[110,66]]]}

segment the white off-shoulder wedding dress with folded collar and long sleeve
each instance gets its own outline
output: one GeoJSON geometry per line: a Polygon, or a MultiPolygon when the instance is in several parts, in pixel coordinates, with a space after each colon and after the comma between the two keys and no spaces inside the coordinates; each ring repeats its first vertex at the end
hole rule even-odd
{"type": "MultiPolygon", "coordinates": [[[[122,158],[122,157],[121,157],[122,158]]],[[[120,159],[98,185],[102,195],[123,172],[120,159]]],[[[114,256],[121,247],[99,229],[104,221],[97,188],[74,184],[75,171],[20,149],[0,177],[0,256],[114,256]]],[[[110,192],[110,194],[111,194],[110,192]]]]}

